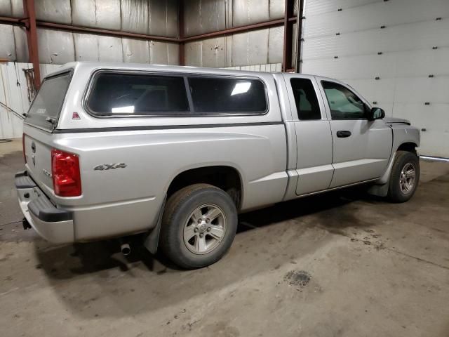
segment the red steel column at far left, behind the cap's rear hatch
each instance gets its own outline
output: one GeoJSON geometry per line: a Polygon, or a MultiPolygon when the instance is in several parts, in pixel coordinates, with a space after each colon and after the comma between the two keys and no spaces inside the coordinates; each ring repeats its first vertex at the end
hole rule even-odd
{"type": "Polygon", "coordinates": [[[37,49],[36,11],[34,0],[23,0],[25,12],[25,28],[27,29],[27,44],[29,62],[33,64],[34,84],[36,88],[41,85],[41,70],[39,69],[39,51],[37,49]]]}

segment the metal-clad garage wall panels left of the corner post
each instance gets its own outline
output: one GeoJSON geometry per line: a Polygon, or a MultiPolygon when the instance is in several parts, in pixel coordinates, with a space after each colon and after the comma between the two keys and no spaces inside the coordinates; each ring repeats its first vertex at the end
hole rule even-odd
{"type": "MultiPolygon", "coordinates": [[[[35,0],[36,20],[65,25],[177,38],[177,0],[35,0]]],[[[1,0],[0,16],[22,18],[23,0],[1,0]]],[[[177,43],[37,29],[41,78],[72,61],[138,62],[177,65],[177,43]]],[[[0,138],[22,136],[29,107],[23,70],[28,62],[24,27],[0,24],[0,138]]]]}

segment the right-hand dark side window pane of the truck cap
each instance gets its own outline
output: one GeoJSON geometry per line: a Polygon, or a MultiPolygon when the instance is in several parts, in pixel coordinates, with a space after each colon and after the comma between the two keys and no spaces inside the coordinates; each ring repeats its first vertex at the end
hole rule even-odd
{"type": "Polygon", "coordinates": [[[254,113],[267,110],[262,81],[220,77],[190,77],[190,91],[195,112],[254,113]]]}

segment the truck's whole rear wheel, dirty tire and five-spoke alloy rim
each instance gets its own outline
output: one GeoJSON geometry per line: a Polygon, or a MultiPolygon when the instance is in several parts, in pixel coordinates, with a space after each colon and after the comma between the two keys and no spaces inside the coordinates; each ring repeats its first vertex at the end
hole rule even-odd
{"type": "Polygon", "coordinates": [[[180,267],[206,267],[225,255],[236,230],[237,211],[229,194],[213,185],[190,185],[167,201],[161,249],[180,267]]]}

